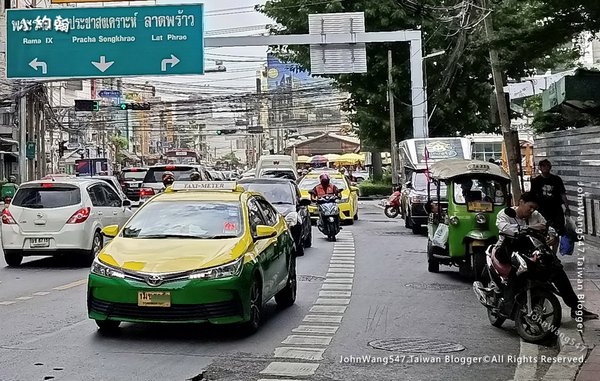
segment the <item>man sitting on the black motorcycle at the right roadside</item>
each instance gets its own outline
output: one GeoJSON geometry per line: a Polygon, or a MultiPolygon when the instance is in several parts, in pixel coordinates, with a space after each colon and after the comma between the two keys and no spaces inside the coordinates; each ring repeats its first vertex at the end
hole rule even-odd
{"type": "MultiPolygon", "coordinates": [[[[511,265],[512,252],[518,251],[518,239],[506,239],[506,236],[516,236],[519,231],[526,228],[546,230],[546,219],[536,210],[537,207],[538,203],[535,195],[530,192],[524,192],[519,199],[519,205],[512,207],[516,212],[516,217],[510,217],[506,213],[508,208],[498,213],[498,216],[496,217],[496,226],[501,233],[496,244],[496,259],[498,262],[505,265],[511,265]]],[[[597,314],[588,311],[585,308],[581,309],[581,312],[577,314],[577,295],[575,294],[573,286],[558,258],[555,258],[555,265],[552,272],[551,281],[560,292],[560,296],[563,298],[565,304],[571,308],[571,317],[575,318],[576,316],[581,316],[584,319],[598,319],[597,314]]],[[[500,304],[499,312],[504,316],[508,316],[512,310],[515,294],[515,277],[516,271],[513,266],[510,275],[508,276],[508,283],[504,288],[504,298],[500,304]]]]}

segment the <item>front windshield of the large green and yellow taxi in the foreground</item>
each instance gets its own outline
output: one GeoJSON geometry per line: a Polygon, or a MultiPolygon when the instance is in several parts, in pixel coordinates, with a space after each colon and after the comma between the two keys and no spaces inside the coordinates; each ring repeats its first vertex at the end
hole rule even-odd
{"type": "Polygon", "coordinates": [[[123,229],[125,238],[226,239],[242,232],[240,204],[157,201],[144,206],[123,229]]]}

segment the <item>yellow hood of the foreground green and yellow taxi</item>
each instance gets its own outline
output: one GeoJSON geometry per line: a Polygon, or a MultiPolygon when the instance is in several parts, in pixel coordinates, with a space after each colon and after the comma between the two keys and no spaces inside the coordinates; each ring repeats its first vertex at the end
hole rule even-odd
{"type": "Polygon", "coordinates": [[[111,266],[147,273],[198,270],[233,261],[251,242],[240,239],[143,239],[118,237],[98,258],[111,266]]]}

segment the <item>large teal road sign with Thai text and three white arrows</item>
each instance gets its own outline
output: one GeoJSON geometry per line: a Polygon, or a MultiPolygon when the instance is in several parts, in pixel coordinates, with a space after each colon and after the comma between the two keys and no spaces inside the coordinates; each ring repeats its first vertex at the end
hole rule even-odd
{"type": "Polygon", "coordinates": [[[7,78],[204,73],[202,4],[7,11],[7,78]]]}

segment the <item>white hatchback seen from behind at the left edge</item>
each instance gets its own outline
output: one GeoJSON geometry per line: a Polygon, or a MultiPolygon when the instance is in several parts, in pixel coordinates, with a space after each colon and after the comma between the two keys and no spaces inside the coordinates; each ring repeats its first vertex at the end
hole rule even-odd
{"type": "Polygon", "coordinates": [[[131,201],[102,180],[24,183],[2,212],[4,258],[19,266],[24,256],[76,252],[91,264],[104,244],[102,228],[131,215],[131,201]]]}

